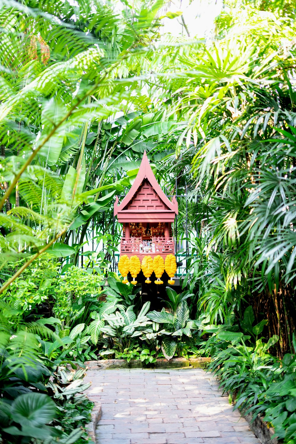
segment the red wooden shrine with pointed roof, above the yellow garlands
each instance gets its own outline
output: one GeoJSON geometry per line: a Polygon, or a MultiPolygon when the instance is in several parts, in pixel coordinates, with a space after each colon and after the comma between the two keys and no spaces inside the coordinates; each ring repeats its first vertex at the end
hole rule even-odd
{"type": "Polygon", "coordinates": [[[129,192],[114,202],[114,216],[123,224],[120,254],[136,254],[140,261],[150,254],[163,259],[175,253],[172,223],[178,214],[178,203],[172,202],[159,186],[144,151],[143,159],[129,192]]]}

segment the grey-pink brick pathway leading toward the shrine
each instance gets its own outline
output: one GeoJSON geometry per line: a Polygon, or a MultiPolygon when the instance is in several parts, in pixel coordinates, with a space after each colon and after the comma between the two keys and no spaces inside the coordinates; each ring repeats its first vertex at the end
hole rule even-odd
{"type": "Polygon", "coordinates": [[[98,444],[258,444],[249,424],[202,369],[89,370],[102,403],[98,444]]]}

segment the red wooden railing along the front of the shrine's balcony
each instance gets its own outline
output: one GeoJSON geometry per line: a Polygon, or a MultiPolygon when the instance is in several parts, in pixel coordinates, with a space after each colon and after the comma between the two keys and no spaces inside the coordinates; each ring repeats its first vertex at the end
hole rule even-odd
{"type": "Polygon", "coordinates": [[[152,238],[150,246],[143,245],[142,237],[122,238],[120,242],[121,254],[174,254],[174,238],[152,238]]]}

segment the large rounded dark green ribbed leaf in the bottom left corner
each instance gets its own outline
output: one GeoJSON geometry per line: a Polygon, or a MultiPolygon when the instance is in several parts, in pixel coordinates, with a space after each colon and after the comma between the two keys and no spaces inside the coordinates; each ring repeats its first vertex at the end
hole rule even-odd
{"type": "Polygon", "coordinates": [[[11,412],[13,420],[22,426],[38,427],[55,418],[56,407],[43,393],[26,393],[13,401],[11,412]]]}

